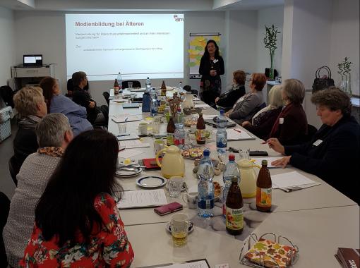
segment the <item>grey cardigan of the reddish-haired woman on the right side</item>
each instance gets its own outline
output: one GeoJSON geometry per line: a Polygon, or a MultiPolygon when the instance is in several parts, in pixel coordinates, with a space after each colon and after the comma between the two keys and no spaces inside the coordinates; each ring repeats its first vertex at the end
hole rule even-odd
{"type": "Polygon", "coordinates": [[[236,123],[242,123],[244,121],[250,121],[251,117],[253,117],[253,111],[263,104],[263,92],[248,92],[244,97],[241,97],[236,104],[234,104],[234,108],[232,109],[232,113],[229,114],[229,118],[234,120],[236,123]]]}

